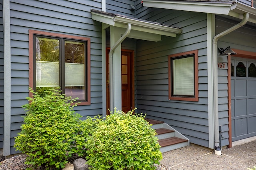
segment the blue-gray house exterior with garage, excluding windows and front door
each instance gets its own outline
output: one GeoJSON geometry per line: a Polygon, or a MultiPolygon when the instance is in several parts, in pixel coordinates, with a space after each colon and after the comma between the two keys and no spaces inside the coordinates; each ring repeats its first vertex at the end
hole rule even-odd
{"type": "MultiPolygon", "coordinates": [[[[25,114],[21,106],[28,103],[32,71],[29,36],[33,31],[90,39],[90,102],[74,109],[83,119],[106,115],[106,49],[113,47],[118,30],[120,35],[126,31],[121,21],[102,21],[112,19],[108,13],[119,14],[122,22],[126,18],[134,21],[132,31],[144,24],[140,35],[131,33],[113,53],[115,60],[121,49],[133,51],[132,94],[137,112],[164,121],[190,143],[211,149],[219,145],[219,125],[222,146],[256,136],[256,78],[240,77],[234,71],[244,64],[247,75],[251,64],[256,65],[252,0],[0,0],[0,4],[0,149],[4,156],[19,152],[13,145],[25,114]],[[168,33],[159,25],[153,30],[157,23],[170,29],[168,33]],[[152,32],[146,28],[150,24],[152,32]],[[218,53],[228,46],[237,55],[218,53]],[[194,101],[170,99],[168,59],[189,51],[198,53],[198,97],[194,101]]],[[[115,77],[120,72],[112,74],[115,77]]],[[[118,79],[113,81],[117,85],[110,90],[110,107],[121,109],[121,85],[118,79]]]]}

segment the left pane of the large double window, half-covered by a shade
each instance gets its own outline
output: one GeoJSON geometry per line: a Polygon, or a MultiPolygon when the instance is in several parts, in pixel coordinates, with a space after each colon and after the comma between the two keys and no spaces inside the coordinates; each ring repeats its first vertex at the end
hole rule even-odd
{"type": "Polygon", "coordinates": [[[57,87],[59,84],[60,42],[58,39],[36,37],[36,89],[57,87]]]}

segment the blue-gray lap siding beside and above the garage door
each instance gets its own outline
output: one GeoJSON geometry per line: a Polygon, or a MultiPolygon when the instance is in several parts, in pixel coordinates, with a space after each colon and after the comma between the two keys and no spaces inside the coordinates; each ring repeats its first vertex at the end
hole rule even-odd
{"type": "MultiPolygon", "coordinates": [[[[239,23],[216,16],[216,35],[226,29],[239,23]]],[[[256,52],[256,27],[244,25],[220,38],[218,41],[219,48],[230,46],[232,49],[256,52]]],[[[234,55],[235,56],[235,55],[234,55]]],[[[256,57],[255,57],[256,59],[256,57]]],[[[218,61],[227,64],[228,59],[225,56],[219,56],[218,61]]],[[[218,101],[219,101],[219,123],[223,125],[222,146],[229,145],[228,134],[228,70],[218,69],[218,101]]]]}

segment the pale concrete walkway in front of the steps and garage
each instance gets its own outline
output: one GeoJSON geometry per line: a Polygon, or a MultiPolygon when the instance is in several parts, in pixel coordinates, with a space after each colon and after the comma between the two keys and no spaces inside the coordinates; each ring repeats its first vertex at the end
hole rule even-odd
{"type": "Polygon", "coordinates": [[[165,152],[160,162],[165,166],[162,170],[248,170],[256,166],[254,138],[232,143],[232,148],[222,149],[221,156],[197,145],[165,152]]]}

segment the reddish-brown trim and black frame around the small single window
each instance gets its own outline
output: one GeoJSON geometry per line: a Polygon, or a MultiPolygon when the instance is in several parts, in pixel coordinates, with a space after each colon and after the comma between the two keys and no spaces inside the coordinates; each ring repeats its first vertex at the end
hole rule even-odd
{"type": "Polygon", "coordinates": [[[168,55],[168,90],[169,90],[169,100],[181,100],[181,101],[192,101],[198,102],[198,50],[187,51],[183,53],[177,53],[168,55]],[[171,68],[171,61],[173,57],[182,57],[194,55],[194,90],[195,96],[194,97],[187,97],[187,96],[172,96],[172,68],[171,68]]]}

